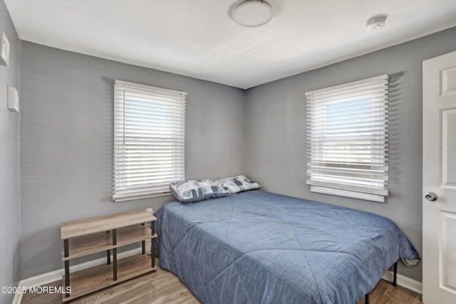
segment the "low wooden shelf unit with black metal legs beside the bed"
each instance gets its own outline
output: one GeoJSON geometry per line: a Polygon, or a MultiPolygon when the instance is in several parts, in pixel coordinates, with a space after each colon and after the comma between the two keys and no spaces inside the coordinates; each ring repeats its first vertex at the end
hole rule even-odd
{"type": "Polygon", "coordinates": [[[65,262],[62,285],[65,290],[71,286],[71,293],[63,294],[63,302],[155,271],[157,267],[153,248],[157,237],[156,220],[146,209],[141,209],[62,223],[62,260],[65,262]],[[150,256],[145,254],[147,239],[151,241],[150,256]],[[117,259],[119,247],[138,242],[142,243],[141,254],[117,259]],[[105,265],[70,273],[71,259],[103,251],[106,252],[105,265]]]}

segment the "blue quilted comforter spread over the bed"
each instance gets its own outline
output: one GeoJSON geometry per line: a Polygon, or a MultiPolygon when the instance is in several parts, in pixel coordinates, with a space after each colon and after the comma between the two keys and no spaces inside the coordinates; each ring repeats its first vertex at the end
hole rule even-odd
{"type": "Polygon", "coordinates": [[[260,190],[156,213],[160,266],[203,303],[357,303],[415,248],[382,216],[260,190]]]}

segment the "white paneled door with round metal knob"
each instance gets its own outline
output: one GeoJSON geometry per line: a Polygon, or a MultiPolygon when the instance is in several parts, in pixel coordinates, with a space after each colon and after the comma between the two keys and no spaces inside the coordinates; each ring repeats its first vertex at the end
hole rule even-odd
{"type": "Polygon", "coordinates": [[[423,62],[423,302],[456,303],[456,51],[423,62]]]}

